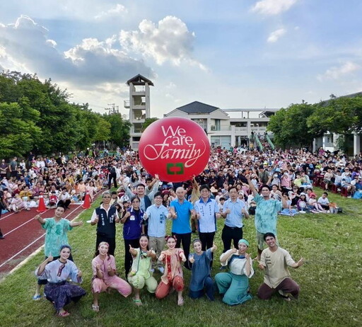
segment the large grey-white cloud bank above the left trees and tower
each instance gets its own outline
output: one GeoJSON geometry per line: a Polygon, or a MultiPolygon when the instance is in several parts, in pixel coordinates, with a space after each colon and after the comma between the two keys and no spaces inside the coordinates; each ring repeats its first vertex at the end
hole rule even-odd
{"type": "Polygon", "coordinates": [[[142,60],[113,47],[117,38],[87,38],[60,52],[57,42],[49,40],[47,33],[47,28],[28,16],[21,16],[15,24],[1,25],[0,44],[6,56],[0,57],[0,64],[6,69],[36,72],[42,78],[69,81],[78,88],[123,83],[136,74],[154,76],[142,60]]]}

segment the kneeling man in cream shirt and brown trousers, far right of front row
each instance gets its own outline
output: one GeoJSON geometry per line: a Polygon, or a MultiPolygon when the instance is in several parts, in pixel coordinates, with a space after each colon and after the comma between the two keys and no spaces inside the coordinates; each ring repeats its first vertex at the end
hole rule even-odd
{"type": "Polygon", "coordinates": [[[296,263],[288,251],[280,248],[276,244],[273,233],[266,233],[264,240],[268,248],[262,251],[259,268],[265,271],[265,275],[264,282],[257,291],[257,296],[260,299],[267,300],[270,299],[275,292],[279,292],[286,301],[291,300],[290,295],[294,299],[298,299],[300,287],[291,279],[287,267],[299,268],[303,265],[304,259],[300,258],[296,263]]]}

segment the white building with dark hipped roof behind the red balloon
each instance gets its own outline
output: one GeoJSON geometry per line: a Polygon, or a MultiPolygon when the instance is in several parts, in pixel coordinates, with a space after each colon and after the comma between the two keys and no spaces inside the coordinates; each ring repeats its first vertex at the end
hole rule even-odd
{"type": "Polygon", "coordinates": [[[267,125],[270,115],[279,109],[221,109],[212,105],[207,105],[199,101],[194,101],[187,105],[172,110],[165,114],[165,117],[187,117],[197,122],[209,137],[212,147],[274,147],[269,141],[272,134],[267,132],[267,125]],[[230,118],[228,113],[240,113],[238,118],[230,118]],[[257,117],[250,117],[257,114],[257,117]],[[255,134],[256,139],[252,138],[255,134]],[[268,141],[269,139],[269,141],[268,141]],[[256,142],[256,144],[254,144],[256,142]]]}

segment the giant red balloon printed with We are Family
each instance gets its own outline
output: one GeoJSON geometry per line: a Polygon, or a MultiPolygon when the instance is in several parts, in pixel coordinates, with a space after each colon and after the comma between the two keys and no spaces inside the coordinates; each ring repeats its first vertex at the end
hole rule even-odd
{"type": "Polygon", "coordinates": [[[210,157],[206,133],[187,118],[166,117],[149,125],[139,141],[139,159],[148,173],[168,182],[199,175],[210,157]]]}

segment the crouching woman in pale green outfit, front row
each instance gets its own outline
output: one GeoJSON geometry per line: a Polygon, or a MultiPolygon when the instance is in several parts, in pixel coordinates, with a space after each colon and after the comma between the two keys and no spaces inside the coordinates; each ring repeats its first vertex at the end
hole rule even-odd
{"type": "Polygon", "coordinates": [[[157,282],[152,272],[152,262],[156,260],[156,253],[152,248],[148,248],[148,236],[146,234],[142,234],[139,238],[139,248],[132,248],[129,245],[129,253],[132,254],[133,263],[128,281],[134,289],[133,302],[136,306],[140,306],[142,302],[139,291],[144,288],[144,285],[150,293],[154,293],[157,288],[157,282]]]}

